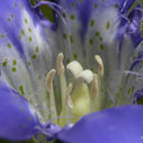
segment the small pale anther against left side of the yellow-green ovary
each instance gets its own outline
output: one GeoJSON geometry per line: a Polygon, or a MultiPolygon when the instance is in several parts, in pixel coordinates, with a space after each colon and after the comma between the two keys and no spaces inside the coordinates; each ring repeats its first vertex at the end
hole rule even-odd
{"type": "Polygon", "coordinates": [[[72,97],[70,97],[72,89],[73,89],[73,84],[69,84],[67,87],[67,91],[66,91],[66,105],[69,108],[73,108],[73,101],[72,101],[72,97]]]}

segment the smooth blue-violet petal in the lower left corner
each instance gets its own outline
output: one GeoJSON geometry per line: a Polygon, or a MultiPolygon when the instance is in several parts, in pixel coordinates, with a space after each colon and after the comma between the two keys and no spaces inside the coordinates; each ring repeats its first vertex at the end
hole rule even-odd
{"type": "Polygon", "coordinates": [[[20,141],[37,133],[35,111],[25,98],[0,82],[0,138],[20,141]]]}

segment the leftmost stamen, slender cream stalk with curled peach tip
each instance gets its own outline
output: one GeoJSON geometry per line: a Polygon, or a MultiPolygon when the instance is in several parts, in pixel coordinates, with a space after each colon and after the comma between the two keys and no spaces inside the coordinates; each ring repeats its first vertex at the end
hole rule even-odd
{"type": "MultiPolygon", "coordinates": [[[[55,69],[52,69],[48,72],[46,76],[46,89],[50,92],[50,105],[52,107],[52,114],[51,119],[57,118],[57,112],[56,112],[56,105],[55,105],[55,97],[54,97],[54,90],[53,90],[53,78],[55,77],[55,69]]],[[[55,120],[56,122],[56,120],[55,120]]]]}

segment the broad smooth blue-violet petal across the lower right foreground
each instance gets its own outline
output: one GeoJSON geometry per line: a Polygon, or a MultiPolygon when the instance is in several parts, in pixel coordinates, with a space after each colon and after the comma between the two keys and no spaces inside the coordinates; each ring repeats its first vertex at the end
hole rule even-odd
{"type": "Polygon", "coordinates": [[[58,134],[66,143],[142,143],[143,106],[123,106],[90,113],[58,134]]]}

